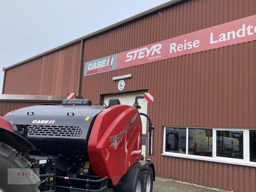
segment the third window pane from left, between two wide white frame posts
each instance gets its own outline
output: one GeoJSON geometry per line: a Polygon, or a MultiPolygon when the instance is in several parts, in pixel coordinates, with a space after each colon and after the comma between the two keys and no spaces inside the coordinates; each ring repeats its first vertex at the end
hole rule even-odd
{"type": "Polygon", "coordinates": [[[216,131],[218,157],[244,159],[243,131],[216,131]]]}

